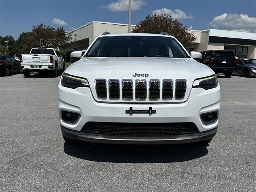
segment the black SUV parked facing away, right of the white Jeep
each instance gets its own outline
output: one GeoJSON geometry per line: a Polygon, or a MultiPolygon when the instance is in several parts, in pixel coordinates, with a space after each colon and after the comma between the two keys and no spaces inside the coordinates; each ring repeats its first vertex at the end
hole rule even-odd
{"type": "Polygon", "coordinates": [[[225,77],[231,77],[236,70],[236,58],[232,51],[209,50],[201,54],[202,59],[199,62],[209,66],[216,74],[224,73],[225,77]]]}

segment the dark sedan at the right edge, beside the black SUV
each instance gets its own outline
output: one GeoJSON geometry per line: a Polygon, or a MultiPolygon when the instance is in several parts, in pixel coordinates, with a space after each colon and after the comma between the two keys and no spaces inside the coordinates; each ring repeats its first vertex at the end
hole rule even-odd
{"type": "Polygon", "coordinates": [[[240,58],[236,61],[236,71],[245,77],[256,76],[256,59],[240,58]]]}

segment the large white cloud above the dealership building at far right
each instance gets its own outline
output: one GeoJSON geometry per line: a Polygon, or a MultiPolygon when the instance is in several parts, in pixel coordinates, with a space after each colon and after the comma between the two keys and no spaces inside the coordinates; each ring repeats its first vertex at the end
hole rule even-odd
{"type": "Polygon", "coordinates": [[[224,29],[235,30],[241,32],[256,32],[256,17],[249,17],[246,14],[227,14],[216,16],[206,26],[224,29]]]}

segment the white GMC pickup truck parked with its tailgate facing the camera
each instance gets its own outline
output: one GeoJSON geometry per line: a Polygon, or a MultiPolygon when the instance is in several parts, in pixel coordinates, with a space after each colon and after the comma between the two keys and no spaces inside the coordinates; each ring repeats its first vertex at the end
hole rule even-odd
{"type": "Polygon", "coordinates": [[[58,76],[58,70],[65,69],[65,62],[60,53],[54,48],[32,48],[30,54],[21,54],[20,67],[25,77],[30,77],[32,71],[41,74],[51,72],[58,76]]]}

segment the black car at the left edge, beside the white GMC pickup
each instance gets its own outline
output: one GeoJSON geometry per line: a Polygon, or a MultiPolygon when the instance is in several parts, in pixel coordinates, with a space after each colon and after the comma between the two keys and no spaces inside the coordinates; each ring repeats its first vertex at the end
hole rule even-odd
{"type": "Polygon", "coordinates": [[[9,76],[11,73],[21,72],[20,62],[10,55],[0,55],[0,74],[9,76]]]}

